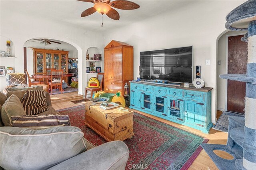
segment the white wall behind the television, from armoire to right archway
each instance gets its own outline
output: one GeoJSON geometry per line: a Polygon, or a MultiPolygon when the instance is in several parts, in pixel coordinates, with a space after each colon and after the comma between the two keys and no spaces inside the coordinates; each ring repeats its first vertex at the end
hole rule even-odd
{"type": "MultiPolygon", "coordinates": [[[[140,51],[193,46],[194,70],[202,66],[202,79],[212,90],[212,122],[216,121],[216,41],[226,30],[226,15],[245,1],[197,1],[161,16],[148,18],[104,34],[111,40],[134,46],[134,78],[138,76],[140,51]],[[210,59],[210,65],[205,60],[210,59]]],[[[166,1],[168,3],[168,1],[166,1]]],[[[194,71],[194,77],[195,77],[194,71]]]]}

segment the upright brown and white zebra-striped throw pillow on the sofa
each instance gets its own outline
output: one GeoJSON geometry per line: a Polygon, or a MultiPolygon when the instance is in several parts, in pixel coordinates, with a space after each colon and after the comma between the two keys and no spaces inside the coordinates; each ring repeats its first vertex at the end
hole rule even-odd
{"type": "Polygon", "coordinates": [[[28,90],[21,100],[27,115],[34,115],[48,110],[46,106],[46,91],[28,90]]]}

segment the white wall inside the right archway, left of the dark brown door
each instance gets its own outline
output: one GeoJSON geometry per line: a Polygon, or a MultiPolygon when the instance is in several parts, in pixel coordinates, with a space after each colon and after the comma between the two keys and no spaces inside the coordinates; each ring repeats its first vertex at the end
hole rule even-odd
{"type": "Polygon", "coordinates": [[[217,65],[217,109],[226,110],[227,109],[227,80],[219,77],[220,74],[228,73],[228,36],[235,36],[245,34],[246,31],[228,31],[223,34],[218,40],[218,60],[221,61],[220,65],[217,65]]]}

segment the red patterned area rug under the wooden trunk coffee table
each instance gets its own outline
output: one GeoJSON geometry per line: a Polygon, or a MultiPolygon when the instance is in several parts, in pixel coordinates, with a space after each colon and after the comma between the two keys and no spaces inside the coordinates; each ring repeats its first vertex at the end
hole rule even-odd
{"type": "MultiPolygon", "coordinates": [[[[81,128],[95,146],[106,141],[84,126],[84,105],[58,110],[69,115],[72,126],[81,128]]],[[[208,140],[174,126],[134,113],[134,136],[124,140],[130,150],[126,169],[186,170],[208,140]]]]}

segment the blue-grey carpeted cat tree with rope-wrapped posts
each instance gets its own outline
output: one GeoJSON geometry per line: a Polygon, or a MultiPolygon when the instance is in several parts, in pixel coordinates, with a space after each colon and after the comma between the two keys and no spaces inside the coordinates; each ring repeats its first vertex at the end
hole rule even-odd
{"type": "Polygon", "coordinates": [[[226,28],[248,30],[241,39],[248,41],[246,74],[222,74],[220,78],[246,82],[245,118],[230,116],[226,145],[201,144],[220,170],[256,170],[256,0],[246,1],[226,16],[226,28]],[[234,159],[227,160],[214,154],[223,150],[234,159]]]}

